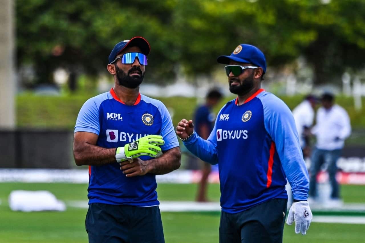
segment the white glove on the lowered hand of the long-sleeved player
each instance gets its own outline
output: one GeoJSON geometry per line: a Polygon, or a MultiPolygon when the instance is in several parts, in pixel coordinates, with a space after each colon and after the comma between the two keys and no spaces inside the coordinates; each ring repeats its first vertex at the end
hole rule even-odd
{"type": "Polygon", "coordinates": [[[311,208],[307,201],[293,202],[289,209],[287,224],[292,225],[295,221],[295,233],[305,235],[313,219],[311,208]]]}

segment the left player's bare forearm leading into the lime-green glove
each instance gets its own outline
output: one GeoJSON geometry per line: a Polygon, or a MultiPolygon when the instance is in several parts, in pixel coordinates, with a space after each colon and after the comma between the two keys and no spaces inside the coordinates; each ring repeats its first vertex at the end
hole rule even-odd
{"type": "Polygon", "coordinates": [[[93,144],[83,144],[75,147],[73,156],[76,165],[106,165],[116,162],[115,148],[103,148],[93,144]]]}

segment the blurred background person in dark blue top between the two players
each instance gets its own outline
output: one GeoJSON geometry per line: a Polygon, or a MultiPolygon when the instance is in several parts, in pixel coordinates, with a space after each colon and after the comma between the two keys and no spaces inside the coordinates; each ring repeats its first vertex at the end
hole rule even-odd
{"type": "MultiPolygon", "coordinates": [[[[210,133],[213,130],[215,115],[212,113],[212,109],[219,103],[221,99],[222,93],[220,93],[217,89],[212,89],[205,97],[205,104],[197,107],[194,112],[195,131],[203,139],[208,139],[210,133]]],[[[198,163],[200,163],[201,166],[201,180],[198,184],[196,201],[207,202],[207,184],[212,166],[210,163],[201,161],[199,158],[198,160],[198,163]]]]}

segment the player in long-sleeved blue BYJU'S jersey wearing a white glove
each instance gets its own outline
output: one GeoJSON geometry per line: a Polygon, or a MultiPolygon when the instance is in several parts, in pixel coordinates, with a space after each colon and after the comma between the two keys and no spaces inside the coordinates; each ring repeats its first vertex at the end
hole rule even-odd
{"type": "Polygon", "coordinates": [[[182,119],[176,134],[201,160],[219,165],[219,242],[282,242],[287,212],[287,178],[294,202],[288,224],[306,234],[312,220],[307,197],[309,175],[292,112],[261,89],[266,59],[255,46],[241,44],[217,61],[226,64],[231,93],[237,98],[219,111],[207,140],[182,119]]]}

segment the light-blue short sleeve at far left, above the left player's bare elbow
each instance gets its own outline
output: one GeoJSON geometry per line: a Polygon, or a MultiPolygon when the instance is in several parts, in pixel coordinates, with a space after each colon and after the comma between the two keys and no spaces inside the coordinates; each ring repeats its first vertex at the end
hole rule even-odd
{"type": "Polygon", "coordinates": [[[74,132],[92,132],[99,135],[99,108],[103,101],[111,99],[113,97],[110,92],[105,92],[88,99],[78,113],[74,132]]]}

